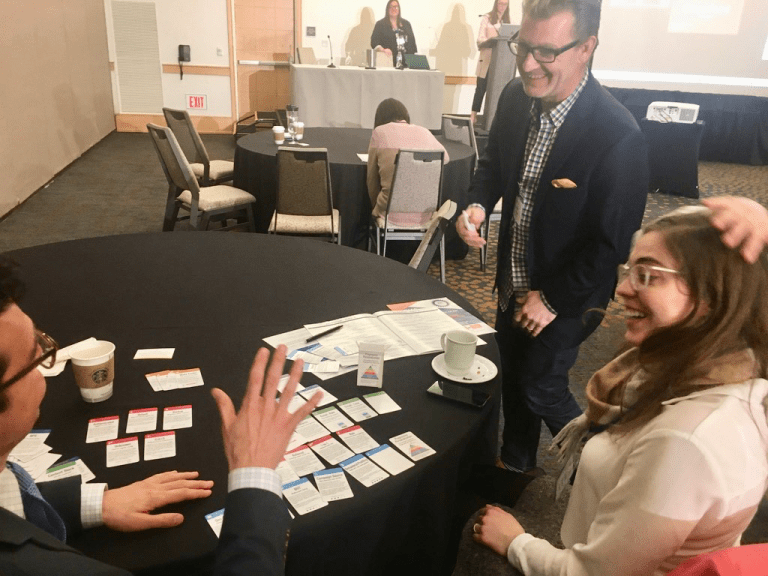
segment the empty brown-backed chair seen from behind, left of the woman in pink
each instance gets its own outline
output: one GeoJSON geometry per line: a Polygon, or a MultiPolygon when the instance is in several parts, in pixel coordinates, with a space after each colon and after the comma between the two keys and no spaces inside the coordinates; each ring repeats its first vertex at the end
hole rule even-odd
{"type": "Polygon", "coordinates": [[[326,148],[277,149],[277,197],[270,234],[327,236],[341,244],[326,148]]]}

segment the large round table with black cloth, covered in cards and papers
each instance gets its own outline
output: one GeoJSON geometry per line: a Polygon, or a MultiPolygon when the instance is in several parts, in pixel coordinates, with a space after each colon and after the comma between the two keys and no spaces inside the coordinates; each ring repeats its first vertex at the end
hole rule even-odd
{"type": "MultiPolygon", "coordinates": [[[[204,500],[172,506],[185,515],[170,530],[122,534],[88,530],[70,543],[85,554],[137,573],[192,574],[209,566],[217,540],[205,515],[224,506],[227,464],[210,389],[239,405],[262,339],[303,324],[385,309],[386,304],[448,297],[443,284],[361,250],[268,235],[158,233],[76,240],[10,253],[27,283],[23,309],[61,345],[95,336],[116,344],[115,393],[99,404],[80,399],[71,368],[48,380],[39,427],[64,458],[80,456],[97,482],[117,487],[169,469],[198,470],[215,481],[204,500]],[[171,360],[133,360],[140,348],[175,347],[171,360]],[[199,367],[205,386],[153,392],[144,375],[199,367]],[[191,404],[192,428],[176,431],[174,458],[106,468],[103,442],[86,444],[91,418],[191,404]]],[[[499,365],[492,337],[478,348],[499,365]]],[[[287,573],[449,573],[456,543],[450,531],[457,486],[475,463],[491,463],[498,434],[498,378],[479,385],[492,394],[476,410],[426,394],[436,379],[434,354],[388,361],[384,390],[402,407],[362,424],[379,443],[411,431],[437,453],[370,488],[348,477],[354,498],[297,516],[287,573]]],[[[360,397],[356,373],[318,382],[339,400],[360,397]]],[[[158,430],[162,416],[158,417],[158,430]]],[[[139,445],[143,454],[140,433],[139,445]]],[[[265,522],[269,521],[265,518],[265,522]]]]}

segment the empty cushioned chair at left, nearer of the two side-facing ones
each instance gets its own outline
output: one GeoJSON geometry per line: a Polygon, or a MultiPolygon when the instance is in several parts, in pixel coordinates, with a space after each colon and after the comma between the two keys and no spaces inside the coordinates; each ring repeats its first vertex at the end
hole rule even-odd
{"type": "Polygon", "coordinates": [[[253,218],[256,199],[251,194],[224,184],[201,188],[170,128],[147,124],[147,130],[168,180],[163,231],[170,232],[176,222],[187,219],[193,230],[207,230],[211,222],[221,222],[223,226],[219,230],[256,231],[253,218]],[[189,216],[180,218],[181,209],[188,211],[189,216]],[[237,223],[229,225],[229,218],[237,218],[237,223]]]}

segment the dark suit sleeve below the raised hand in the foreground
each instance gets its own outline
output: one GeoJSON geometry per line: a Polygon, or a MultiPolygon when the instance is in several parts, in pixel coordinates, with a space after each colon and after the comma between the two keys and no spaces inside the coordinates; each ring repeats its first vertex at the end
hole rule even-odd
{"type": "Polygon", "coordinates": [[[214,576],[284,574],[289,526],[285,504],[272,492],[258,488],[230,492],[214,576]]]}

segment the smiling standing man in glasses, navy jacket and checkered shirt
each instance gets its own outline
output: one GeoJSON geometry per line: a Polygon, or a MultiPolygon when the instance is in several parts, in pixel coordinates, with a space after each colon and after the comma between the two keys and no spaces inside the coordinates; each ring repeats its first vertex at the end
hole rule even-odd
{"type": "Polygon", "coordinates": [[[599,325],[648,191],[645,139],[590,74],[600,0],[524,0],[510,41],[520,78],[503,90],[459,235],[470,246],[504,198],[496,340],[501,462],[536,473],[541,421],[553,435],[581,414],[568,390],[579,345],[599,325]]]}

